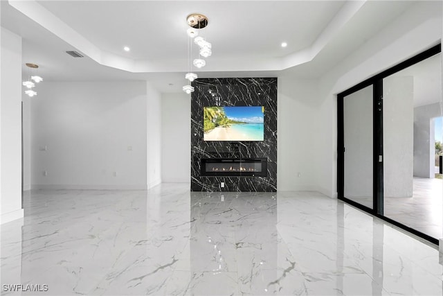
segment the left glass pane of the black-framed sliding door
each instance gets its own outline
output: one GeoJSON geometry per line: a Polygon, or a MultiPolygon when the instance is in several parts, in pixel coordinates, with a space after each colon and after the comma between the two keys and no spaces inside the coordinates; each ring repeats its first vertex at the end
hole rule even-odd
{"type": "Polygon", "coordinates": [[[343,99],[345,198],[373,208],[372,85],[343,99]]]}

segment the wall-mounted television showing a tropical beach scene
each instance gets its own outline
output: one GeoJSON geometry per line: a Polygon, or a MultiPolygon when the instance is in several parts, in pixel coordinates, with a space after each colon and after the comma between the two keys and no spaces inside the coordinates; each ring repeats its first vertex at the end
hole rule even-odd
{"type": "Polygon", "coordinates": [[[264,106],[204,107],[204,141],[263,141],[264,106]]]}

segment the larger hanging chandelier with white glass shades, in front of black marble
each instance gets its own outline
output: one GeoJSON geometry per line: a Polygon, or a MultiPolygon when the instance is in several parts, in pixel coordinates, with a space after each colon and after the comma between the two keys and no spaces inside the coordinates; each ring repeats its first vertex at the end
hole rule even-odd
{"type": "Polygon", "coordinates": [[[200,13],[193,13],[188,15],[186,18],[188,22],[188,73],[186,73],[185,78],[188,79],[188,84],[183,86],[183,92],[190,94],[194,92],[194,87],[190,85],[190,82],[198,78],[196,73],[192,73],[192,65],[201,69],[205,67],[206,60],[203,58],[208,58],[212,55],[212,44],[206,41],[204,37],[199,36],[199,30],[208,26],[208,18],[200,13]],[[190,40],[194,39],[194,43],[199,46],[199,57],[192,60],[192,42],[190,40]],[[191,62],[192,60],[192,62],[191,62]]]}

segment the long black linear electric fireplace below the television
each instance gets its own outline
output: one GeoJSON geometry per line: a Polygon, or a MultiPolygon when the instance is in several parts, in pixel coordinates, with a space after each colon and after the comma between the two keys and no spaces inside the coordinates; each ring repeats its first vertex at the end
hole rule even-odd
{"type": "Polygon", "coordinates": [[[266,158],[202,158],[201,176],[266,177],[266,158]]]}

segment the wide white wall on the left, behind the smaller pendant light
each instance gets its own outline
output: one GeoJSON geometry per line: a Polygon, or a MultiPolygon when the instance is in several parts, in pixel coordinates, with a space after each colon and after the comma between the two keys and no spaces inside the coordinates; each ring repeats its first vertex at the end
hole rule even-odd
{"type": "Polygon", "coordinates": [[[145,189],[146,103],[145,82],[41,83],[31,101],[33,188],[145,189]]]}

